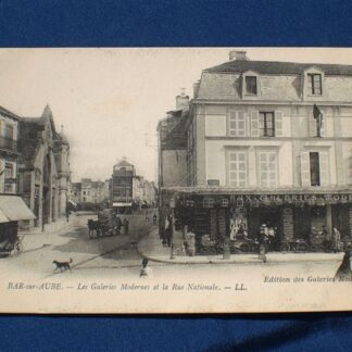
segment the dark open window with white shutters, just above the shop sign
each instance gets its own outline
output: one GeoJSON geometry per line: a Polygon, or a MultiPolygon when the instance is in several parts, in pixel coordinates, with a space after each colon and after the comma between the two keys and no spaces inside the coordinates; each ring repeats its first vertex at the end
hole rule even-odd
{"type": "Polygon", "coordinates": [[[329,185],[328,152],[302,152],[301,177],[303,187],[329,185]]]}

